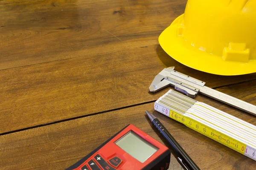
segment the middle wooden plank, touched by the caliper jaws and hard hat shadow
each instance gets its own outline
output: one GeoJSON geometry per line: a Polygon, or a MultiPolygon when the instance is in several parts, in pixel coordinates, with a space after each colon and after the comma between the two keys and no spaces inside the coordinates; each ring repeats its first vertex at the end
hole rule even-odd
{"type": "Polygon", "coordinates": [[[153,47],[0,71],[0,133],[156,100],[165,91],[152,94],[148,87],[166,65],[177,66],[177,71],[201,79],[209,87],[256,75],[203,73],[153,47]],[[157,54],[159,57],[152,57],[157,54]]]}

